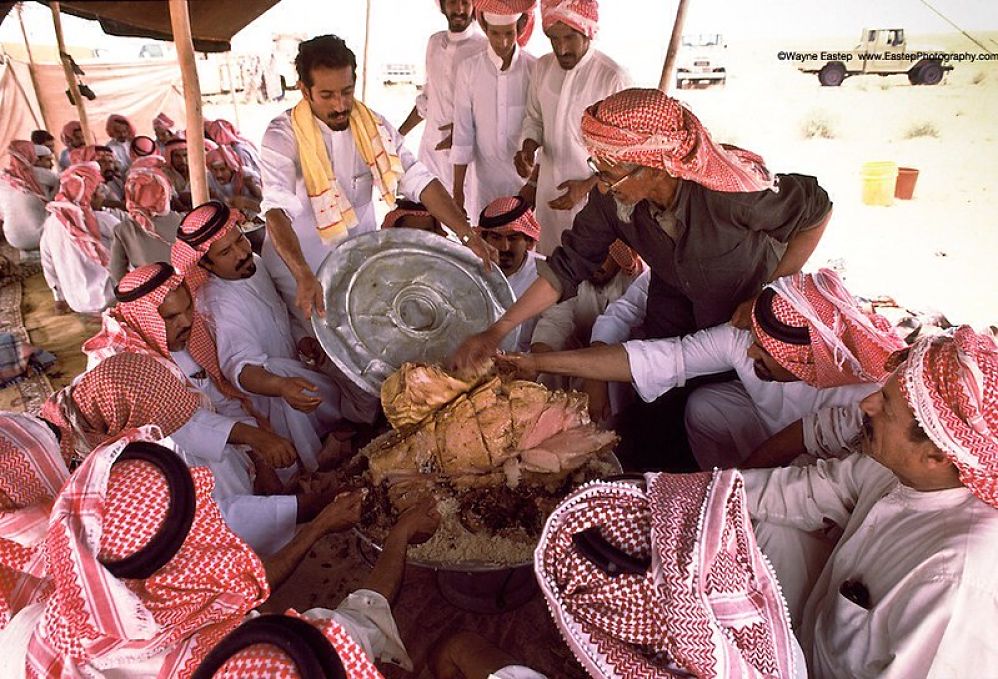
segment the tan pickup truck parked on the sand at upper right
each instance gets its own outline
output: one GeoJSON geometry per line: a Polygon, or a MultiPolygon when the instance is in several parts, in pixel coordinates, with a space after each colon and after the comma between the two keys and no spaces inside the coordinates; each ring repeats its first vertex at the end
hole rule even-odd
{"type": "Polygon", "coordinates": [[[946,71],[948,55],[940,48],[914,47],[903,28],[864,28],[859,44],[851,50],[794,52],[793,60],[804,73],[817,73],[826,87],[838,87],[855,75],[895,75],[906,73],[912,85],[937,85],[946,71]]]}

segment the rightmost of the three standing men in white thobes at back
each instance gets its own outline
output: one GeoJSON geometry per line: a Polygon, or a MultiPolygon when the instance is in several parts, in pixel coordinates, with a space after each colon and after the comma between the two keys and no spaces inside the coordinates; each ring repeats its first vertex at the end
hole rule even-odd
{"type": "MultiPolygon", "coordinates": [[[[531,77],[516,168],[527,178],[535,162],[540,164],[535,209],[543,226],[537,250],[543,255],[561,243],[562,232],[571,228],[596,186],[582,143],[582,112],[631,83],[622,66],[590,44],[598,15],[596,0],[541,6],[542,26],[553,52],[537,60],[531,77]]],[[[529,188],[535,187],[528,184],[529,188]]]]}

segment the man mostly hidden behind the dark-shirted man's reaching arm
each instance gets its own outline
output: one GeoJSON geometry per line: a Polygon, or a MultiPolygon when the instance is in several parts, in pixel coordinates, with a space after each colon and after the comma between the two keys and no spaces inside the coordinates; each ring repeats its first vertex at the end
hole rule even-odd
{"type": "MultiPolygon", "coordinates": [[[[616,241],[610,246],[603,266],[588,280],[579,284],[579,292],[572,299],[560,302],[543,314],[534,327],[530,341],[530,351],[534,354],[546,351],[566,351],[589,346],[593,323],[606,311],[611,303],[619,299],[635,281],[644,268],[634,250],[616,241]]],[[[547,376],[542,379],[550,388],[568,388],[569,381],[547,376]]],[[[576,380],[571,388],[581,385],[576,380]]]]}

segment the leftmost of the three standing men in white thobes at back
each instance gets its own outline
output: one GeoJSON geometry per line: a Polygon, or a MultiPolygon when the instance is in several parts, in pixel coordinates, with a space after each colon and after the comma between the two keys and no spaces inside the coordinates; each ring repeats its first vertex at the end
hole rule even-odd
{"type": "Polygon", "coordinates": [[[486,46],[475,23],[471,0],[437,0],[447,18],[447,30],[430,36],[426,44],[426,80],[399,132],[405,136],[426,121],[419,142],[419,160],[450,188],[454,185],[451,143],[454,125],[454,94],[457,69],[486,46]],[[437,147],[440,147],[439,149],[437,147]]]}

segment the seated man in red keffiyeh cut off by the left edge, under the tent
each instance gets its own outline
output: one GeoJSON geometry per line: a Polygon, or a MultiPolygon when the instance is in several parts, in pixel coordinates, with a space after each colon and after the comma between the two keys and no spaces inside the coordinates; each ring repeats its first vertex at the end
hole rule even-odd
{"type": "Polygon", "coordinates": [[[37,250],[50,194],[39,181],[35,145],[15,139],[7,147],[7,168],[0,174],[0,219],[4,238],[18,250],[37,250]]]}

